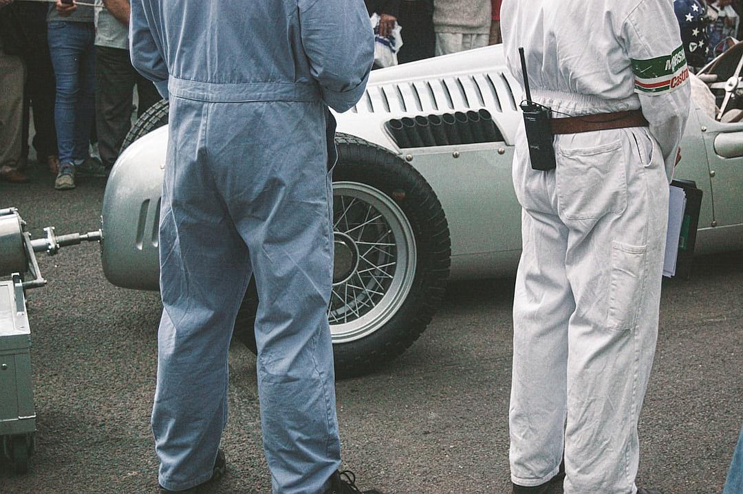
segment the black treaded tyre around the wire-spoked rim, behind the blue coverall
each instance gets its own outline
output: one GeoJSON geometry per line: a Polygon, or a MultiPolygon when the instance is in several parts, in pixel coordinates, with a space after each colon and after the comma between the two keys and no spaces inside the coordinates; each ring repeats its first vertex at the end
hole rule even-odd
{"type": "MultiPolygon", "coordinates": [[[[421,336],[444,298],[451,245],[444,209],[418,171],[392,152],[357,137],[337,134],[336,143],[338,163],[334,184],[360,183],[394,201],[415,237],[412,284],[395,313],[370,334],[348,342],[334,342],[337,377],[352,377],[368,374],[395,359],[421,336]]],[[[338,212],[335,204],[336,218],[338,212]]],[[[251,282],[236,320],[235,335],[254,353],[257,302],[255,285],[251,282]]]]}

